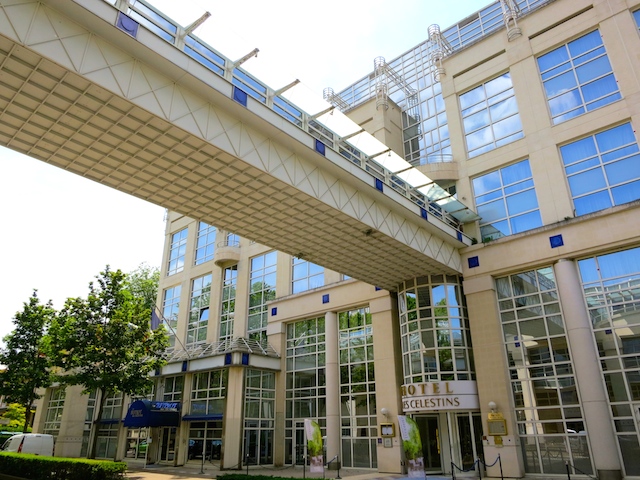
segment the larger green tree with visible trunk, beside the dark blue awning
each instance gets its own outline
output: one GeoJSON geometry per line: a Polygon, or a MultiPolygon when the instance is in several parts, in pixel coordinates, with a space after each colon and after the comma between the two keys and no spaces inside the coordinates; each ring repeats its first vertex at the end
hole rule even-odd
{"type": "MultiPolygon", "coordinates": [[[[168,346],[164,329],[151,331],[151,311],[145,299],[129,290],[127,276],[109,266],[89,284],[86,299],[67,299],[51,325],[51,358],[62,370],[63,385],[81,385],[99,397],[96,422],[105,399],[116,392],[147,391],[149,373],[164,364],[168,346]]],[[[92,426],[89,458],[95,458],[97,425],[92,426]]]]}

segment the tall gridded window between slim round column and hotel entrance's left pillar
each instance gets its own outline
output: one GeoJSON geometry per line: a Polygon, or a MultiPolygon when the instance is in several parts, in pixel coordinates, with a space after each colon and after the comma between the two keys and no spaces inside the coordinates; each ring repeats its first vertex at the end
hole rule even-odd
{"type": "Polygon", "coordinates": [[[342,464],[376,468],[378,421],[369,307],[340,312],[338,326],[342,464]]]}

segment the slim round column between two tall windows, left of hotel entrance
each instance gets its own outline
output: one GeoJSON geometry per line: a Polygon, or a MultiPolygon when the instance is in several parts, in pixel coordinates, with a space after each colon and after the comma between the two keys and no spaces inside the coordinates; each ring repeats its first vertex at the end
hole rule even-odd
{"type": "MultiPolygon", "coordinates": [[[[324,314],[327,379],[327,458],[340,454],[340,366],[338,361],[338,315],[324,314]]],[[[342,461],[342,460],[340,460],[342,461]]]]}

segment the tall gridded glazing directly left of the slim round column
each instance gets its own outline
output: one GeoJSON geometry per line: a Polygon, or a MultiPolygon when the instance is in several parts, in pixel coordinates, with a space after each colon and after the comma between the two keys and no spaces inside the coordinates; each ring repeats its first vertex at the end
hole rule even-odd
{"type": "Polygon", "coordinates": [[[327,379],[324,317],[287,325],[285,390],[285,463],[301,458],[304,419],[327,432],[327,379]]]}

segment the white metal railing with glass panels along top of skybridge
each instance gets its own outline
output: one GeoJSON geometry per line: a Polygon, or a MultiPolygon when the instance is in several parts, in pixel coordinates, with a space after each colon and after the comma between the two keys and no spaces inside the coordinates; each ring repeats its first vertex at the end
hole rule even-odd
{"type": "MultiPolygon", "coordinates": [[[[430,199],[413,186],[400,180],[393,172],[387,170],[348,141],[341,139],[339,135],[315,120],[315,117],[318,115],[311,116],[287,99],[278,95],[280,91],[269,88],[251,74],[242,70],[239,66],[236,66],[240,62],[233,62],[211,48],[193,35],[189,27],[186,29],[181,27],[144,0],[104,1],[115,5],[120,11],[139,22],[140,25],[149,31],[163,38],[176,48],[179,48],[185,54],[207,67],[213,73],[231,82],[252,98],[270,107],[274,112],[287,119],[293,125],[311,134],[327,147],[369,172],[375,178],[382,181],[394,191],[402,194],[420,208],[445,220],[448,225],[457,230],[457,237],[461,238],[462,222],[435,203],[436,200],[441,200],[442,197],[430,199]]],[[[251,53],[249,55],[251,55],[251,53]]],[[[461,216],[461,218],[464,218],[464,216],[461,216]]]]}

